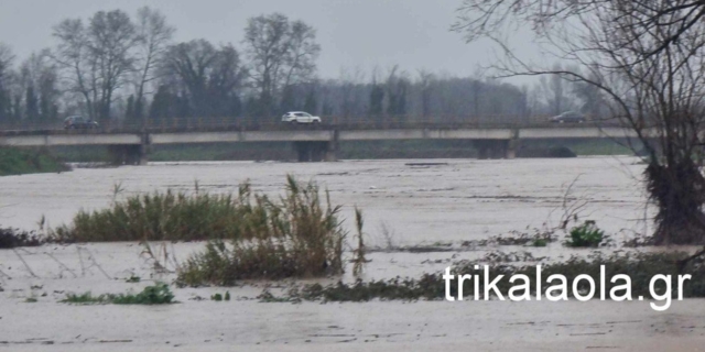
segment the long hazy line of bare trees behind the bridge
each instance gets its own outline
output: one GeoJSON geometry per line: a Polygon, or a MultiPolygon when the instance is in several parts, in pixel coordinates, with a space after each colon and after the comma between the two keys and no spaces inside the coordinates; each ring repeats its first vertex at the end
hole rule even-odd
{"type": "Polygon", "coordinates": [[[599,94],[544,78],[532,86],[399,66],[316,76],[321,46],[308,24],[283,14],[248,20],[243,40],[174,43],[158,10],[99,11],[53,26],[56,45],[15,65],[0,43],[0,123],[56,123],[83,114],[106,124],[188,118],[275,119],[285,111],[346,119],[517,121],[578,110],[599,114],[599,94]]]}

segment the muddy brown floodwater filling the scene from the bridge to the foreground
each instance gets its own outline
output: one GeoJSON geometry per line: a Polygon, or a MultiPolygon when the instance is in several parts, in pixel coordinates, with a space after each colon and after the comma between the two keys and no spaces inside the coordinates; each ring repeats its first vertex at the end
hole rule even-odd
{"type": "MultiPolygon", "coordinates": [[[[633,157],[513,161],[345,161],[295,163],[154,163],[78,168],[63,174],[0,177],[0,224],[36,228],[70,221],[79,209],[130,194],[164,190],[280,193],[286,174],[330,190],[343,216],[364,209],[372,245],[457,245],[510,231],[557,224],[579,207],[617,241],[649,231],[652,211],[633,157]],[[571,187],[571,185],[573,185],[571,187]],[[571,188],[570,193],[567,191],[571,188]],[[647,219],[647,220],[644,220],[647,219]],[[387,234],[384,234],[387,233],[387,234]]],[[[347,221],[346,226],[351,226],[347,221]]],[[[200,243],[155,244],[183,261],[200,243]]],[[[417,276],[489,251],[530,251],[560,258],[586,255],[560,244],[543,249],[482,248],[448,252],[375,252],[365,278],[417,276]]],[[[614,251],[607,249],[601,251],[614,251]]],[[[665,249],[669,250],[669,249],[665,249]]],[[[658,312],[647,301],[371,301],[264,304],[267,286],[174,289],[181,302],[164,307],[70,306],[66,293],[139,292],[158,273],[135,243],[44,245],[0,251],[0,350],[8,351],[703,351],[705,305],[674,301],[658,312]],[[126,283],[132,275],[142,282],[126,283]],[[207,297],[229,290],[234,300],[207,297]],[[198,300],[197,298],[205,298],[198,300]],[[35,298],[36,302],[26,302],[35,298]]],[[[171,267],[173,268],[173,266],[171,267]]],[[[344,279],[352,279],[347,274],[344,279]]],[[[322,279],[323,283],[334,282],[322,279]]]]}

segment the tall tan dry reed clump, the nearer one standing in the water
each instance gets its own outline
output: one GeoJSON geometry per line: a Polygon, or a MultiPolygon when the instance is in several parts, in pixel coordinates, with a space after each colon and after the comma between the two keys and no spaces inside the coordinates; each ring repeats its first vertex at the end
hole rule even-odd
{"type": "Polygon", "coordinates": [[[343,273],[346,232],[338,220],[339,206],[325,204],[314,183],[286,178],[283,197],[241,193],[240,227],[247,235],[213,240],[178,272],[177,284],[232,285],[239,279],[313,277],[343,273]],[[249,202],[249,199],[254,199],[249,202]]]}

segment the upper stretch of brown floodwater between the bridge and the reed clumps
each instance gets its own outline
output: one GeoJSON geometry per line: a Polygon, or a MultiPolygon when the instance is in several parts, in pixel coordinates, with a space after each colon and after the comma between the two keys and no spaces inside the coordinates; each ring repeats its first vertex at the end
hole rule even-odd
{"type": "Polygon", "coordinates": [[[248,179],[256,190],[275,194],[286,174],[318,182],[348,219],[354,206],[361,208],[372,242],[382,232],[400,245],[484,239],[556,226],[576,207],[616,235],[643,232],[648,224],[643,165],[634,157],[431,162],[154,163],[0,177],[0,224],[34,229],[43,216],[50,226],[68,222],[82,208],[109,206],[117,186],[118,199],[167,188],[193,191],[196,183],[204,191],[228,193],[248,179]],[[431,162],[437,164],[424,165],[431,162]]]}

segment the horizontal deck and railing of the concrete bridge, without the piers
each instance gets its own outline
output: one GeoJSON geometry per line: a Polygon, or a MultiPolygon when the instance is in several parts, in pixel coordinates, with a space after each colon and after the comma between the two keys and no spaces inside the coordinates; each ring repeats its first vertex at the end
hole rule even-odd
{"type": "Polygon", "coordinates": [[[151,144],[219,142],[371,141],[371,140],[512,140],[636,138],[619,127],[581,124],[230,124],[218,127],[124,128],[113,130],[6,130],[0,145],[120,145],[140,144],[149,135],[151,144]]]}

